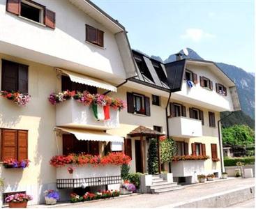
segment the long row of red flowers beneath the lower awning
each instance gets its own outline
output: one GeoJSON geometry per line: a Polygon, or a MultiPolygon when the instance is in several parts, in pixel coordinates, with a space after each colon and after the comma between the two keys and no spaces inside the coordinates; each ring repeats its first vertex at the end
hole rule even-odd
{"type": "Polygon", "coordinates": [[[93,164],[95,166],[102,164],[114,164],[114,165],[122,165],[129,164],[130,157],[125,155],[124,153],[110,153],[109,155],[100,157],[97,155],[85,155],[83,153],[76,155],[56,155],[52,157],[50,160],[50,164],[54,167],[62,167],[66,164],[93,164]]]}

